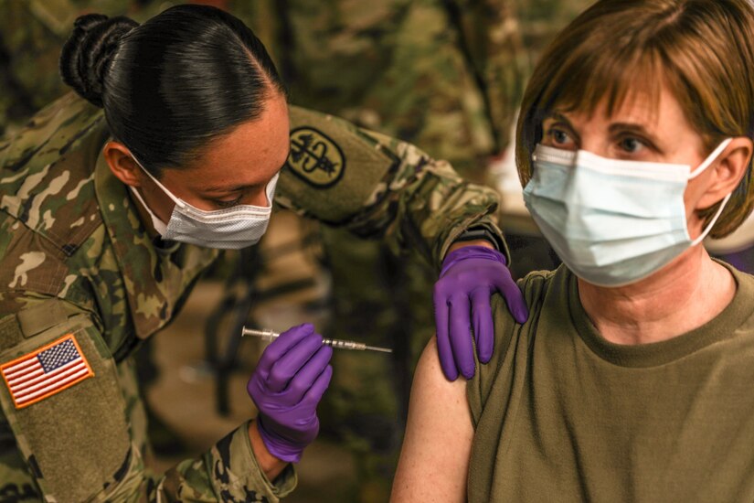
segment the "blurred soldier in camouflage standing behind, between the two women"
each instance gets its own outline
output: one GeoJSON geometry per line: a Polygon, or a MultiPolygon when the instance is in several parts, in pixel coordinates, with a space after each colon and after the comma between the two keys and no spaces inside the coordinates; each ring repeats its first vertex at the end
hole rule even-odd
{"type": "MultiPolygon", "coordinates": [[[[476,182],[507,146],[528,63],[511,0],[262,0],[228,8],[271,48],[293,102],[419,144],[476,182]]],[[[327,333],[396,348],[391,359],[368,361],[336,353],[320,409],[325,433],[355,454],[352,499],[385,501],[413,365],[434,332],[436,273],[416,253],[397,259],[382,243],[336,228],[323,227],[322,236],[333,275],[327,333]]]]}

